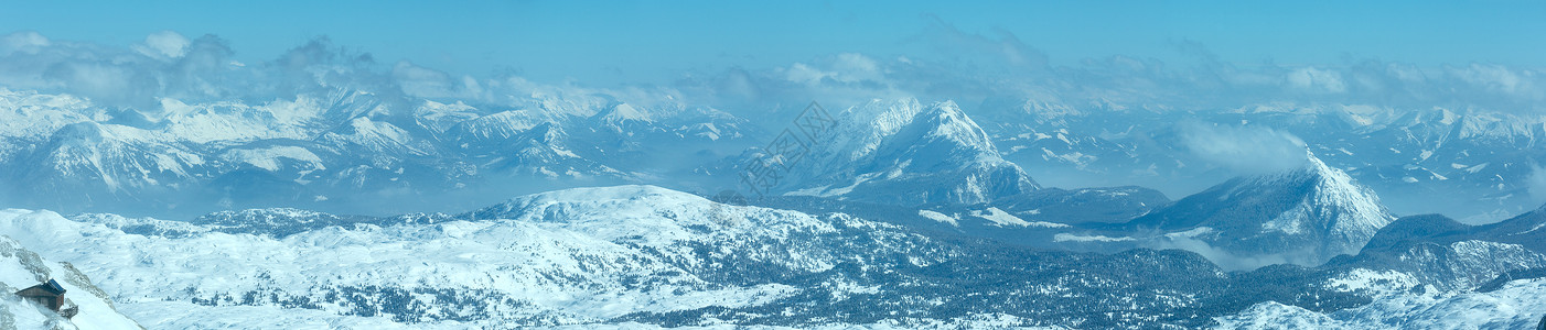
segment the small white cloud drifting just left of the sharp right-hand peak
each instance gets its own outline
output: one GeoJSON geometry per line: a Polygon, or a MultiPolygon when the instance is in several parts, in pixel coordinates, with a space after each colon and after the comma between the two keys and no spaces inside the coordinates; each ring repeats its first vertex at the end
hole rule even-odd
{"type": "Polygon", "coordinates": [[[1235,174],[1296,170],[1308,160],[1303,140],[1271,128],[1183,123],[1178,130],[1192,156],[1235,174]]]}

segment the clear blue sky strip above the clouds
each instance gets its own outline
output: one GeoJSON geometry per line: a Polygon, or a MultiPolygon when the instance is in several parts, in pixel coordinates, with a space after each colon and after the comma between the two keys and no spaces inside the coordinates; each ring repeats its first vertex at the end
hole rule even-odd
{"type": "MultiPolygon", "coordinates": [[[[8,2],[0,34],[127,46],[158,31],[269,60],[328,35],[380,63],[543,80],[669,82],[839,52],[949,57],[931,29],[1017,39],[1050,65],[1108,56],[1181,63],[1178,45],[1241,66],[1546,66],[1546,2],[8,2]],[[934,43],[934,45],[929,45],[934,43]]],[[[948,46],[948,45],[946,45],[948,46]]]]}

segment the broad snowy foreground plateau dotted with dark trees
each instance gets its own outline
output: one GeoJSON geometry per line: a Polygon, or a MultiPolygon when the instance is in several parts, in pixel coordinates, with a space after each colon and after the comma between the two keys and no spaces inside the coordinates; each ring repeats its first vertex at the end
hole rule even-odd
{"type": "Polygon", "coordinates": [[[455,216],[252,210],[175,222],[11,210],[0,233],[97,274],[152,327],[1200,327],[1211,322],[1200,316],[1271,298],[1232,287],[1299,285],[1237,278],[1180,250],[1020,248],[656,187],[561,190],[455,216]]]}

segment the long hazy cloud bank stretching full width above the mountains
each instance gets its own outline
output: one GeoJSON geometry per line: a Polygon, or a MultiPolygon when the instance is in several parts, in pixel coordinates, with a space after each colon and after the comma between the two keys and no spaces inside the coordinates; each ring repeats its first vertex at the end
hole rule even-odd
{"type": "Polygon", "coordinates": [[[326,37],[267,62],[240,63],[232,60],[229,43],[216,35],[190,39],[162,31],[128,46],[108,46],[12,32],[0,37],[0,85],[70,93],[128,108],[156,108],[161,97],[264,100],[343,88],[490,105],[564,89],[730,109],[911,96],[966,105],[1019,97],[1127,108],[1217,109],[1286,102],[1546,114],[1546,76],[1531,68],[1492,63],[1419,68],[1374,59],[1240,66],[1218,60],[1195,42],[1177,42],[1183,60],[1170,63],[1116,54],[1053,66],[1045,51],[1008,31],[972,34],[926,19],[931,23],[921,32],[901,40],[904,54],[844,51],[771,68],[685,69],[676,77],[606,88],[529,82],[493,69],[453,74],[397,59],[377,63],[369,52],[337,46],[326,37]]]}

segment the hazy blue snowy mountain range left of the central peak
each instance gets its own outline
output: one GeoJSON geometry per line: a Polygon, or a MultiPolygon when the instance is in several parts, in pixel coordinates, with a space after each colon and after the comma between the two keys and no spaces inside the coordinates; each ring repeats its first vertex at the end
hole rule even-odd
{"type": "Polygon", "coordinates": [[[745,120],[711,108],[583,96],[527,103],[478,108],[339,88],[275,100],[161,99],[139,109],[0,89],[0,197],[184,217],[244,207],[391,210],[414,196],[509,191],[498,187],[507,180],[533,185],[526,191],[638,182],[745,148],[745,120]]]}

